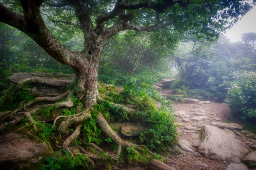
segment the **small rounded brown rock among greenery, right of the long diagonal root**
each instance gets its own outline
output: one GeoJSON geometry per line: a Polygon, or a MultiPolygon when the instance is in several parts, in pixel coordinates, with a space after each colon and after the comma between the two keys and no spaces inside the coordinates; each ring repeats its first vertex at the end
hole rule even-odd
{"type": "Polygon", "coordinates": [[[125,136],[136,136],[141,134],[145,128],[137,123],[126,122],[121,126],[121,133],[125,136]]]}

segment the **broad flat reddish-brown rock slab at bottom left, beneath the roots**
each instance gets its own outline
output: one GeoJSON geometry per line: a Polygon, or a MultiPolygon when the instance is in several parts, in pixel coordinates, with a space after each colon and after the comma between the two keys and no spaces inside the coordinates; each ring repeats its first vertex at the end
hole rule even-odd
{"type": "Polygon", "coordinates": [[[0,143],[0,163],[26,161],[38,153],[47,150],[46,144],[33,143],[29,139],[20,138],[19,134],[2,135],[0,139],[3,141],[0,143]]]}

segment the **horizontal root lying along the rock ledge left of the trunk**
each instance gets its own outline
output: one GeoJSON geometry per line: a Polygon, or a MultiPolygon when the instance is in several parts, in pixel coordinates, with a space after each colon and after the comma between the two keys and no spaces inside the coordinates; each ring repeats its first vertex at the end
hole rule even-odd
{"type": "Polygon", "coordinates": [[[54,87],[67,87],[67,85],[72,82],[73,80],[58,80],[58,79],[50,79],[50,78],[42,78],[42,77],[30,77],[25,80],[22,80],[20,83],[22,83],[23,85],[44,84],[44,85],[51,85],[54,87]]]}

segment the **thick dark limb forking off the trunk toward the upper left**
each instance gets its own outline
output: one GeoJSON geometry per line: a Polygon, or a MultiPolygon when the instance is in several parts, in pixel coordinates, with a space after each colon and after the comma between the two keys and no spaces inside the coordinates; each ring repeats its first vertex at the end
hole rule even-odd
{"type": "Polygon", "coordinates": [[[77,58],[74,54],[65,48],[55,39],[54,35],[46,28],[44,20],[40,15],[40,3],[38,1],[21,1],[24,11],[24,16],[9,10],[4,5],[0,4],[0,22],[17,28],[26,33],[38,45],[40,45],[51,57],[55,60],[77,67],[77,58]]]}

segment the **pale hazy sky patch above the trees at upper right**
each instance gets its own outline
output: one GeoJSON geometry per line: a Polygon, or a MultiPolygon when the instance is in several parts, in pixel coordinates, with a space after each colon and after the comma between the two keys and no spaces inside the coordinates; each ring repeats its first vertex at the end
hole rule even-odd
{"type": "Polygon", "coordinates": [[[236,25],[230,30],[226,30],[226,35],[230,41],[241,41],[241,34],[246,32],[256,32],[256,7],[249,11],[242,20],[238,20],[236,25]]]}

